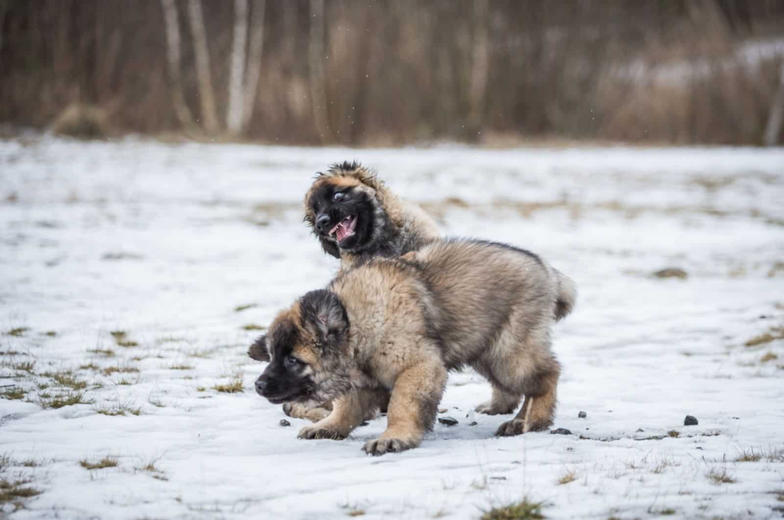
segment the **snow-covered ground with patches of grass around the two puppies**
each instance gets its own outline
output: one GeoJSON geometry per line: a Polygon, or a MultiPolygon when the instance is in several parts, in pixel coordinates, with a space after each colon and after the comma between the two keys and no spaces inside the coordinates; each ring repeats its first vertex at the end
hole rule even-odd
{"type": "Polygon", "coordinates": [[[479,518],[524,496],[548,518],[782,516],[781,149],[42,138],[0,141],[0,196],[11,518],[479,518]],[[345,441],[278,424],[252,391],[259,332],[244,327],[336,269],[299,202],[343,159],[376,167],[445,233],[526,247],[576,280],[554,332],[555,427],[572,435],[494,438],[503,419],[470,412],[490,394],[471,372],[441,404],[459,424],[402,454],[361,452],[383,418],[345,441]],[[666,267],[688,278],[651,275],[666,267]],[[244,391],[214,388],[237,375],[244,391]],[[116,466],[80,465],[104,458],[116,466]]]}

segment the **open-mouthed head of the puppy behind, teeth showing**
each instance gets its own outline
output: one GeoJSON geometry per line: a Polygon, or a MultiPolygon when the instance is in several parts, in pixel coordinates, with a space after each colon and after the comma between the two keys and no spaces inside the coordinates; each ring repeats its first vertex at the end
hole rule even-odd
{"type": "Polygon", "coordinates": [[[358,163],[335,164],[318,174],[305,196],[305,222],[325,252],[340,258],[340,251],[372,247],[384,218],[382,189],[376,176],[358,163]]]}

